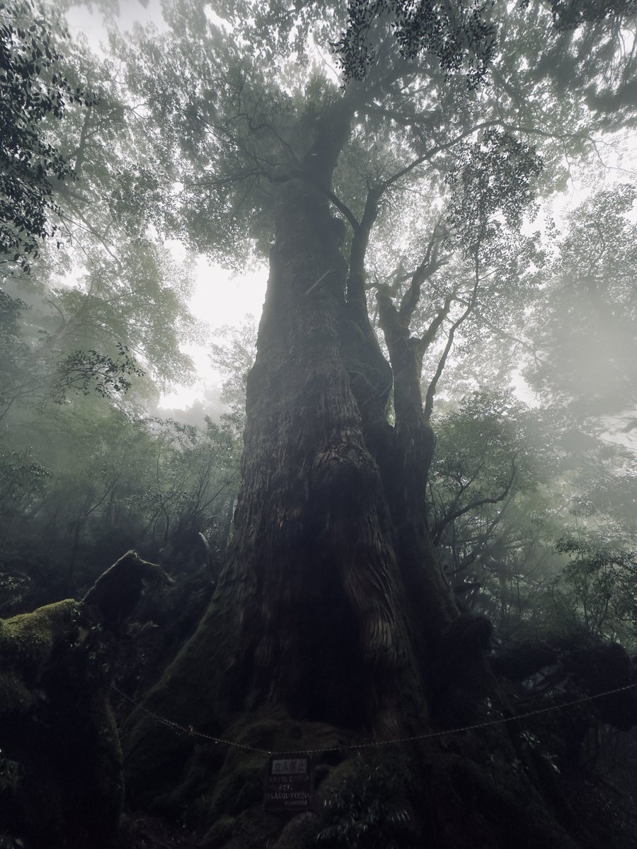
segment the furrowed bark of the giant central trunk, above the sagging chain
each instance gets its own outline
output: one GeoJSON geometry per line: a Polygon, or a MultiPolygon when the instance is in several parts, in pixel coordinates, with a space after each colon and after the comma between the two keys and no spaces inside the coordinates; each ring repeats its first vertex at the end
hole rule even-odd
{"type": "MultiPolygon", "coordinates": [[[[416,439],[412,429],[409,441],[386,417],[392,369],[364,297],[375,202],[349,269],[330,215],[347,98],[318,121],[303,173],[279,183],[234,543],[211,610],[149,695],[157,711],[170,705],[174,720],[212,731],[211,712],[198,715],[206,699],[219,715],[279,705],[293,717],[387,730],[409,713],[411,694],[422,717],[420,670],[458,616],[424,515],[415,532],[409,526],[424,509],[431,431],[416,439]],[[214,669],[193,705],[178,689],[197,680],[206,651],[214,669]]],[[[133,759],[147,724],[132,722],[133,759]]]]}

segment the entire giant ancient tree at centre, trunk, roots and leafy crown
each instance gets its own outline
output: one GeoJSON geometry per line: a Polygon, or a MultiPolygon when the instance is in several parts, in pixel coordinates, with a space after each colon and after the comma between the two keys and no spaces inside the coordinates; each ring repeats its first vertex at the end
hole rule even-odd
{"type": "MultiPolygon", "coordinates": [[[[477,8],[471,37],[438,11],[440,38],[411,52],[391,16],[371,16],[373,60],[341,85],[323,64],[347,25],[339,4],[284,7],[219,3],[217,16],[173,3],[166,36],[120,45],[157,139],[166,226],[234,265],[268,251],[270,269],[234,540],[199,629],[144,706],[268,751],[509,710],[485,661],[488,621],[460,613],[431,539],[431,411],[459,333],[521,310],[533,245],[519,228],[538,180],[550,186],[564,151],[582,153],[606,121],[583,104],[584,77],[623,84],[583,53],[589,31],[497,3],[477,8]],[[540,67],[557,44],[578,72],[570,87],[540,67]]],[[[614,23],[591,24],[596,45],[612,44],[614,23]]],[[[512,765],[514,738],[502,727],[403,753],[415,832],[504,847],[522,817],[516,845],[578,845],[556,794],[544,811],[543,777],[512,765]]],[[[262,756],[179,737],[143,711],[124,743],[133,804],[280,830],[258,806],[262,756]]],[[[280,846],[309,845],[294,828],[280,846]]],[[[210,840],[226,845],[214,828],[210,840]]]]}

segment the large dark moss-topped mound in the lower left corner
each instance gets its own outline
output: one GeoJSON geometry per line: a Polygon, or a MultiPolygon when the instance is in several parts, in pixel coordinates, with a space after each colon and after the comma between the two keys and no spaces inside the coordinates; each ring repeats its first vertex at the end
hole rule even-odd
{"type": "Polygon", "coordinates": [[[110,645],[73,599],[0,621],[0,748],[19,765],[0,819],[33,849],[107,846],[121,815],[110,645]]]}

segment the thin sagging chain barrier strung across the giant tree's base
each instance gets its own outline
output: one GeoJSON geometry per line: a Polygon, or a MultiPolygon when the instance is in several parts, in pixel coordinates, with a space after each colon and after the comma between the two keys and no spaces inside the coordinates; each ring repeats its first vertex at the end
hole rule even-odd
{"type": "Polygon", "coordinates": [[[153,717],[157,722],[161,722],[162,725],[166,725],[168,728],[172,728],[172,730],[176,734],[189,734],[191,737],[200,737],[202,739],[211,740],[211,742],[216,744],[223,744],[234,746],[235,749],[245,749],[247,751],[254,751],[260,755],[293,755],[296,752],[304,751],[307,755],[318,755],[331,751],[343,751],[347,749],[358,750],[358,749],[374,749],[381,748],[381,746],[386,745],[398,745],[399,743],[413,743],[416,740],[426,740],[426,739],[434,739],[437,737],[445,737],[448,734],[460,734],[465,731],[474,731],[476,728],[488,728],[492,725],[502,725],[505,722],[519,722],[521,719],[528,719],[529,717],[538,717],[540,714],[551,713],[552,711],[563,711],[569,707],[574,707],[577,705],[582,705],[587,701],[594,701],[595,699],[602,699],[606,695],[613,695],[616,693],[623,693],[626,690],[634,689],[637,687],[637,683],[627,684],[625,687],[617,687],[612,690],[606,690],[605,693],[597,693],[595,695],[587,695],[584,696],[583,699],[576,699],[574,701],[568,701],[563,705],[552,705],[550,707],[542,707],[537,711],[527,711],[527,713],[518,714],[515,717],[501,717],[500,719],[490,719],[488,722],[475,722],[473,725],[463,725],[458,728],[447,728],[443,731],[431,731],[427,734],[414,734],[412,737],[397,737],[389,740],[379,740],[372,742],[364,742],[364,743],[355,743],[351,745],[337,745],[331,746],[328,749],[303,749],[302,746],[296,749],[288,749],[285,751],[269,751],[268,749],[256,749],[254,746],[245,745],[244,743],[237,743],[234,740],[226,740],[221,737],[213,737],[211,734],[204,734],[202,731],[195,731],[192,725],[188,728],[184,728],[183,725],[179,725],[178,722],[172,722],[170,719],[166,719],[166,717],[160,717],[153,711],[149,711],[148,708],[140,705],[134,699],[131,699],[126,693],[122,693],[120,689],[117,689],[115,684],[112,684],[112,689],[118,695],[121,695],[123,699],[129,701],[132,705],[137,707],[140,711],[144,711],[144,713],[148,714],[149,717],[153,717]]]}

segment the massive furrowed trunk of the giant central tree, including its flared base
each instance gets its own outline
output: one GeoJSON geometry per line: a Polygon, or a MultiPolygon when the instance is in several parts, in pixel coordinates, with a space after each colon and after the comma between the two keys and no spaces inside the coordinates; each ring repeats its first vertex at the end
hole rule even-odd
{"type": "MultiPolygon", "coordinates": [[[[306,172],[278,185],[234,541],[199,629],[125,728],[132,801],[190,812],[212,826],[210,846],[263,846],[279,833],[281,821],[260,808],[263,756],[180,736],[157,716],[253,750],[335,749],[421,733],[431,707],[444,722],[466,722],[493,696],[488,625],[459,616],[426,526],[433,438],[414,385],[418,363],[394,340],[404,362],[392,427],[392,371],[364,309],[364,245],[355,235],[348,268],[330,215],[347,125],[342,104],[324,116],[306,172]],[[232,838],[220,825],[228,814],[238,818],[232,838]]],[[[438,846],[513,845],[518,803],[499,793],[504,782],[537,821],[516,845],[574,846],[552,820],[539,823],[540,797],[512,771],[509,747],[503,731],[465,739],[465,751],[403,752],[415,775],[410,803],[422,808],[416,831],[438,835],[438,846]],[[494,739],[505,753],[489,778],[479,764],[494,739]],[[481,808],[496,798],[502,821],[486,826],[481,808]],[[482,842],[471,835],[477,825],[482,842]]],[[[326,757],[326,771],[342,760],[326,757]]],[[[312,845],[317,826],[303,823],[280,846],[312,845]]]]}

